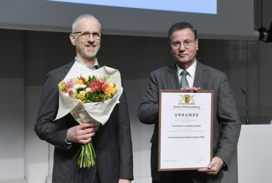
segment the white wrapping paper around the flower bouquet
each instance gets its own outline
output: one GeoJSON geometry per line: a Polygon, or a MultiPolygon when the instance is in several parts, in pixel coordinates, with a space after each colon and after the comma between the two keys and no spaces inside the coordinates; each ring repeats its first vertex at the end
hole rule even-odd
{"type": "Polygon", "coordinates": [[[121,86],[121,76],[120,72],[116,69],[109,67],[102,67],[98,70],[91,71],[90,69],[84,67],[83,65],[75,62],[69,73],[63,80],[74,78],[74,77],[88,77],[88,76],[104,76],[110,75],[110,79],[115,82],[116,88],[119,90],[112,99],[105,100],[103,102],[94,103],[83,103],[80,99],[76,99],[70,96],[66,96],[59,91],[59,107],[57,116],[54,120],[59,119],[69,112],[80,124],[91,122],[97,128],[100,125],[104,125],[114,108],[114,106],[119,103],[119,98],[123,92],[121,86]]]}

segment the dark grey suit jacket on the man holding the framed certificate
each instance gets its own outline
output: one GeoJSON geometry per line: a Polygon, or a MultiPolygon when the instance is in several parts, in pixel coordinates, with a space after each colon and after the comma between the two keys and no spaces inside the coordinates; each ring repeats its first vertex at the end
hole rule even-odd
{"type": "MultiPolygon", "coordinates": [[[[213,121],[213,157],[220,157],[229,168],[236,150],[240,135],[241,122],[226,74],[200,64],[196,60],[193,87],[201,90],[214,90],[214,121],[213,121]]],[[[143,101],[138,109],[138,117],[143,124],[155,124],[151,139],[151,170],[152,177],[157,181],[167,182],[174,171],[158,171],[158,137],[159,137],[159,90],[180,90],[176,64],[158,69],[150,74],[150,83],[143,101]]],[[[195,171],[196,173],[197,171],[195,171]]],[[[203,174],[202,172],[198,172],[203,174]]],[[[223,172],[217,177],[221,179],[223,172]]],[[[205,182],[220,182],[219,180],[205,182]]]]}

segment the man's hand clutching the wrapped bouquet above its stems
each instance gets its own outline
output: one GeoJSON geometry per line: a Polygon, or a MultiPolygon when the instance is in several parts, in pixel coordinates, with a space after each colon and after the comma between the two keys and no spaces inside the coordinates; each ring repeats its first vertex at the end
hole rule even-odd
{"type": "Polygon", "coordinates": [[[72,141],[79,144],[89,143],[94,135],[96,128],[92,123],[83,123],[72,127],[67,131],[66,141],[72,141]],[[84,129],[86,128],[86,129],[84,129]]]}

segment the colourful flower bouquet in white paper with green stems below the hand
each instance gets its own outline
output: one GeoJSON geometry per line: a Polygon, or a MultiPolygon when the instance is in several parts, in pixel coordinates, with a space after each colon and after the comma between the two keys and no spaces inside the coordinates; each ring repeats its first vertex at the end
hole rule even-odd
{"type": "MultiPolygon", "coordinates": [[[[108,67],[65,78],[58,84],[58,88],[59,108],[56,119],[70,112],[78,123],[91,122],[96,130],[109,119],[123,90],[119,71],[108,67]]],[[[92,142],[82,145],[81,149],[78,160],[80,168],[94,166],[96,154],[92,142]]]]}

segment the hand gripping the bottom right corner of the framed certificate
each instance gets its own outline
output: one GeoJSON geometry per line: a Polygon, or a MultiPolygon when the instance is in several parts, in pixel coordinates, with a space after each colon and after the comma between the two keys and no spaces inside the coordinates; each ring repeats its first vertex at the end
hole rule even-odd
{"type": "Polygon", "coordinates": [[[204,172],[208,175],[216,175],[222,168],[223,164],[224,161],[216,156],[212,159],[211,163],[209,163],[207,168],[200,168],[198,169],[198,171],[204,172]]]}

